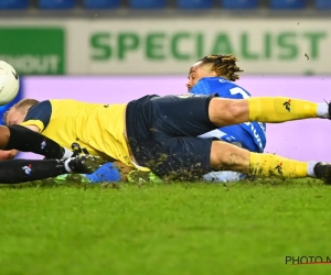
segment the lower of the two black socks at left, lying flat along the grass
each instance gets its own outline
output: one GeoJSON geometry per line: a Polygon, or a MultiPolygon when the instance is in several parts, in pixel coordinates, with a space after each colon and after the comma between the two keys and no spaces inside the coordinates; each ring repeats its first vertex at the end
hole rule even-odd
{"type": "Polygon", "coordinates": [[[0,162],[0,184],[19,184],[66,174],[64,162],[12,160],[0,162]]]}

